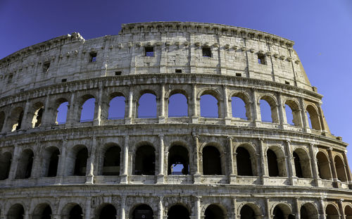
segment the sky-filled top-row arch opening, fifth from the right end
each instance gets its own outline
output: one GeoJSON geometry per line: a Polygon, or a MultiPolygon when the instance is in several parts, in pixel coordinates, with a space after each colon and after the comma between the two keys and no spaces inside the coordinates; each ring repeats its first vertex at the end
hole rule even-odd
{"type": "Polygon", "coordinates": [[[211,94],[201,95],[201,117],[220,118],[219,101],[211,94]]]}

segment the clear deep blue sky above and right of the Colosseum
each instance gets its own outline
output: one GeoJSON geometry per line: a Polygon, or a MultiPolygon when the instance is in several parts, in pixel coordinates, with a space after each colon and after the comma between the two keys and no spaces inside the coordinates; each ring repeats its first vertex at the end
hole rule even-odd
{"type": "MultiPolygon", "coordinates": [[[[122,23],[172,20],[248,27],[294,40],[310,83],[324,95],[331,132],[352,144],[351,0],[0,0],[0,58],[71,32],[91,39],[117,35],[122,23]]],[[[348,159],[351,166],[350,146],[348,159]]]]}

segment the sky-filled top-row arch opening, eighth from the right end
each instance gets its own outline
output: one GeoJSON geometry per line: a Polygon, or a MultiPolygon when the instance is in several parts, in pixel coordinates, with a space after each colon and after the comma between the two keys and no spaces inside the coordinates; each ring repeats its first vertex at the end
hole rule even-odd
{"type": "Polygon", "coordinates": [[[119,120],[125,118],[125,96],[112,94],[109,102],[108,120],[119,120]]]}

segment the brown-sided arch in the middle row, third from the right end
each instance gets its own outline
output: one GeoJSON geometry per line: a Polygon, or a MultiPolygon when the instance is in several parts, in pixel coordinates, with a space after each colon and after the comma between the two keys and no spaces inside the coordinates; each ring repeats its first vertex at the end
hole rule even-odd
{"type": "Polygon", "coordinates": [[[296,170],[296,177],[312,178],[312,171],[310,168],[310,158],[308,151],[303,148],[297,148],[293,152],[294,168],[296,170]]]}

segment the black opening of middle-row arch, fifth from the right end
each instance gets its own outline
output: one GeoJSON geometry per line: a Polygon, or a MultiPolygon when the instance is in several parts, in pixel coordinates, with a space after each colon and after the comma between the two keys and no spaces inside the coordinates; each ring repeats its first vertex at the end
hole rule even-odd
{"type": "Polygon", "coordinates": [[[251,155],[244,147],[236,150],[237,175],[253,175],[251,155]]]}

